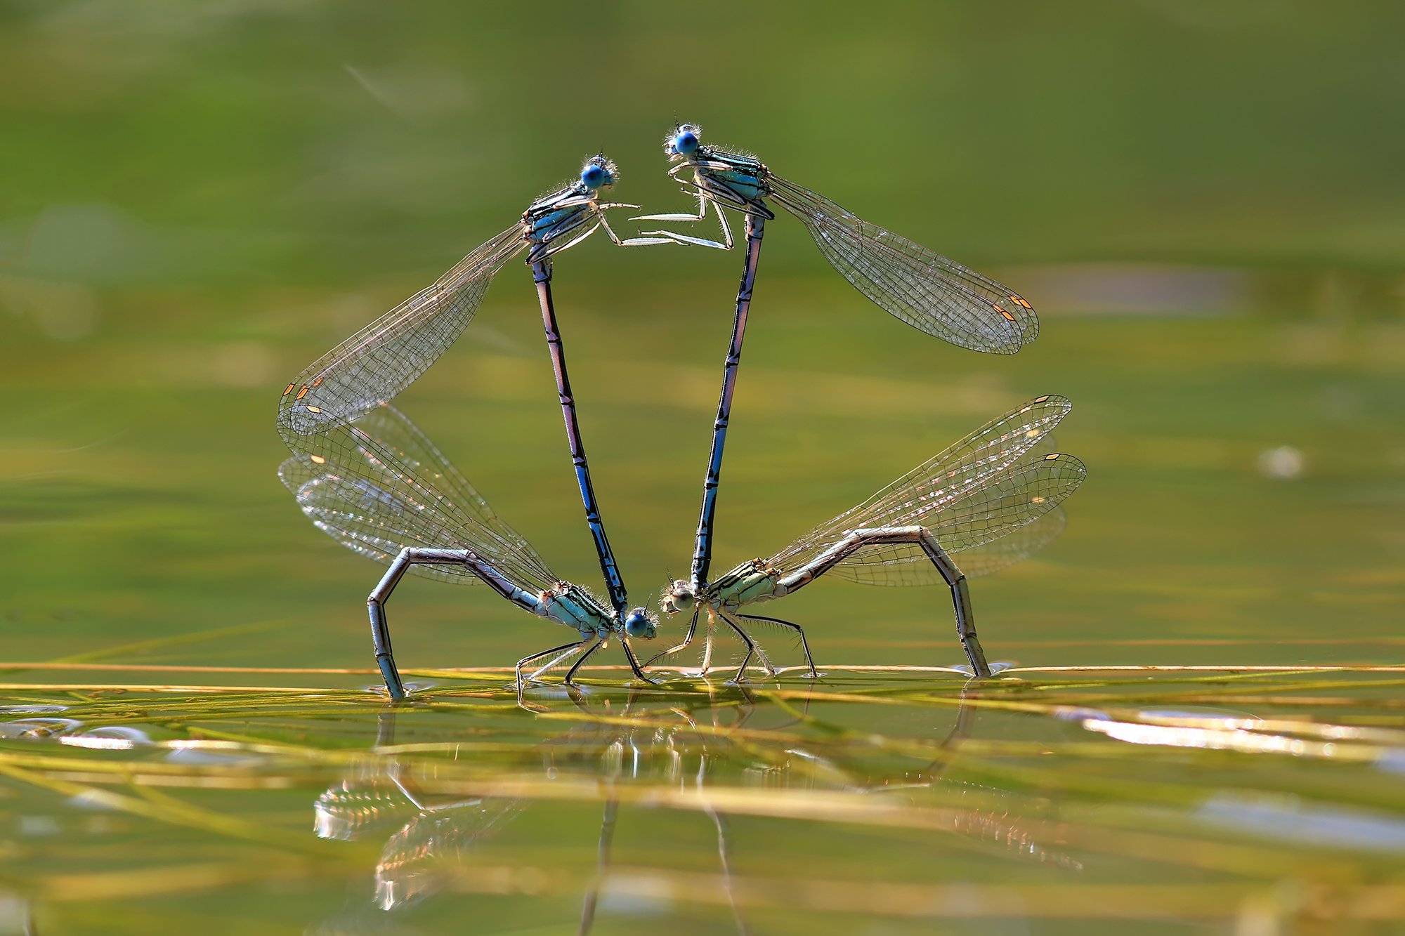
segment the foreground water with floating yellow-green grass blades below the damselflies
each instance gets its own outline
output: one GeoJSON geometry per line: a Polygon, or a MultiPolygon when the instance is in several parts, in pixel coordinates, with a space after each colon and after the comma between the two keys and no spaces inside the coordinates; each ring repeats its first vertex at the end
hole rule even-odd
{"type": "Polygon", "coordinates": [[[524,911],[580,932],[1194,929],[1259,919],[1283,881],[1343,890],[1273,919],[1395,919],[1405,891],[1381,881],[1405,853],[1405,722],[1399,670],[1378,669],[1019,670],[968,696],[844,668],[804,690],[590,680],[541,690],[534,714],[457,684],[393,710],[354,690],[74,696],[0,722],[0,854],[46,908],[94,887],[350,885],[332,918],[322,891],[308,932],[325,933],[450,932],[465,914],[517,932],[524,911]],[[140,847],[115,859],[114,833],[140,847]],[[191,849],[211,863],[184,873],[191,849]]]}

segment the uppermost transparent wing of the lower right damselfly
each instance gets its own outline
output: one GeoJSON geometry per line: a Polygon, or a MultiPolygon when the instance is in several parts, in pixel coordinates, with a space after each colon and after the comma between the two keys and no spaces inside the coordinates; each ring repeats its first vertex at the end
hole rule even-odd
{"type": "Polygon", "coordinates": [[[785,569],[799,568],[851,530],[913,524],[933,528],[934,517],[1028,458],[1072,408],[1066,396],[1035,396],[948,446],[861,505],[819,524],[770,561],[785,569]]]}

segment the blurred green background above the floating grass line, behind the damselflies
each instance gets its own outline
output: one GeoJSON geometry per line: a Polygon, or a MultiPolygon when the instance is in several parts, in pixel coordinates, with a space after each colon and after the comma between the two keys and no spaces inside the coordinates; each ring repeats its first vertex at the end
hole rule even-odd
{"type": "MultiPolygon", "coordinates": [[[[1059,392],[1089,481],[1059,541],[974,585],[992,658],[1398,659],[1402,30],[1391,3],[4,4],[4,658],[368,665],[379,571],[278,483],[278,394],[586,155],[620,163],[613,197],[684,209],[677,118],[1044,323],[1013,358],[922,337],[781,218],[718,565],[1059,392]]],[[[739,266],[603,238],[556,264],[636,600],[687,566],[739,266]]],[[[596,583],[525,270],[400,403],[596,583]]],[[[821,662],[960,658],[934,590],[823,582],[785,611],[821,662]]],[[[420,580],[392,620],[409,669],[561,638],[420,580]]]]}

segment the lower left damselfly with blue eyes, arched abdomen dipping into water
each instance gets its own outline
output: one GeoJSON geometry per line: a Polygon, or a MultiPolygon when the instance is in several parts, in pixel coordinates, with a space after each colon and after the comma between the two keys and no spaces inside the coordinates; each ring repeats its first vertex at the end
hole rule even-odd
{"type": "Polygon", "coordinates": [[[518,690],[527,680],[580,654],[576,670],[618,635],[635,676],[646,682],[629,638],[652,639],[658,621],[636,607],[617,614],[590,592],[554,575],[531,545],[507,526],[468,479],[389,403],[309,436],[289,436],[292,457],[278,476],[312,523],[354,552],[389,565],[367,599],[375,661],[385,687],[405,696],[391,651],[385,603],[414,572],[461,585],[485,583],[513,604],[577,632],[577,639],[517,662],[518,690]],[[537,670],[524,670],[545,659],[537,670]]]}

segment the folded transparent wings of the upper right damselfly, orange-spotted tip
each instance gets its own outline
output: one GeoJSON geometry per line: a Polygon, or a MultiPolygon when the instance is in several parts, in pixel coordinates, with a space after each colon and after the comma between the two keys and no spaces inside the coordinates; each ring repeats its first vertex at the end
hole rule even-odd
{"type": "Polygon", "coordinates": [[[857,218],[776,176],[771,195],[809,229],[825,259],[865,297],[920,332],[993,354],[1014,354],[1040,333],[1017,292],[857,218]]]}

